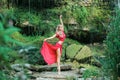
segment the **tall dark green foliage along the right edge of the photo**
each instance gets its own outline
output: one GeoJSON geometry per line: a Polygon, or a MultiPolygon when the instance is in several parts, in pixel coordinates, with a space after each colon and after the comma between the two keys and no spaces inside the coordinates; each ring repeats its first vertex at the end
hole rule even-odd
{"type": "Polygon", "coordinates": [[[114,79],[117,80],[119,75],[117,65],[120,63],[120,9],[116,8],[114,11],[115,15],[111,19],[109,32],[105,40],[107,51],[103,68],[105,73],[114,76],[114,79]]]}

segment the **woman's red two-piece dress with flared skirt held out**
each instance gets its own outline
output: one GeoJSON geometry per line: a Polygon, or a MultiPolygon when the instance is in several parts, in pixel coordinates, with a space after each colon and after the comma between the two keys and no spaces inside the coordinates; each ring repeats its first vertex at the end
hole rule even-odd
{"type": "MultiPolygon", "coordinates": [[[[64,32],[62,32],[62,35],[58,35],[56,34],[56,38],[58,38],[60,41],[64,41],[65,38],[66,38],[66,35],[64,32]]],[[[62,54],[62,45],[59,44],[58,42],[53,45],[53,44],[50,44],[46,41],[43,42],[43,45],[41,47],[41,50],[40,50],[40,53],[42,54],[45,62],[50,65],[50,64],[53,64],[53,63],[56,63],[57,62],[57,54],[56,54],[56,50],[60,48],[60,52],[62,54]]]]}

